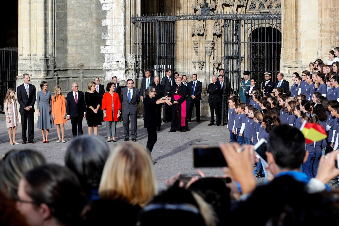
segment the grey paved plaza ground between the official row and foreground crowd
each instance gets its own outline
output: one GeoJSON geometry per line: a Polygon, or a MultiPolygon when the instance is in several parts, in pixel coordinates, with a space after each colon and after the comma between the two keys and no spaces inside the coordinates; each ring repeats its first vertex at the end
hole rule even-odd
{"type": "MultiPolygon", "coordinates": [[[[154,165],[154,169],[158,180],[159,190],[165,189],[166,186],[164,181],[178,172],[185,174],[197,173],[197,169],[193,167],[193,147],[203,145],[216,146],[220,142],[230,141],[229,132],[226,126],[207,126],[208,123],[210,123],[209,119],[207,121],[202,120],[201,123],[197,123],[193,120],[188,123],[190,131],[172,133],[167,132],[171,127],[170,123],[162,124],[161,131],[158,131],[157,133],[158,141],[152,151],[152,157],[157,162],[157,164],[154,165]]],[[[84,134],[87,134],[87,123],[85,119],[82,124],[83,132],[84,134]]],[[[137,120],[137,127],[137,143],[146,147],[147,130],[143,126],[142,119],[137,120]]],[[[0,114],[0,155],[12,148],[32,148],[43,153],[49,163],[61,165],[64,164],[64,153],[66,148],[73,139],[70,121],[67,121],[65,124],[65,143],[56,143],[58,140],[56,129],[49,130],[49,143],[42,143],[41,130],[37,129],[35,124],[34,141],[37,143],[22,144],[21,123],[19,123],[16,141],[20,144],[9,145],[7,131],[5,114],[0,114]]],[[[122,123],[117,124],[116,135],[118,142],[107,143],[112,150],[117,144],[123,142],[124,131],[122,123]]],[[[104,124],[99,125],[98,136],[102,138],[103,142],[106,142],[106,126],[104,124]]],[[[132,142],[131,139],[128,142],[132,142]]],[[[221,168],[203,168],[201,170],[207,177],[222,176],[223,174],[221,168]]],[[[262,184],[263,181],[263,178],[257,178],[258,184],[262,184]]]]}

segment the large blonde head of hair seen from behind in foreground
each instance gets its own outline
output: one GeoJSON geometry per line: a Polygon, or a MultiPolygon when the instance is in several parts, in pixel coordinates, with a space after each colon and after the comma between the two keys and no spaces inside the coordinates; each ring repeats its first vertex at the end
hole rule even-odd
{"type": "Polygon", "coordinates": [[[100,198],[143,207],[156,194],[157,182],[149,151],[132,142],[118,145],[103,169],[100,198]]]}

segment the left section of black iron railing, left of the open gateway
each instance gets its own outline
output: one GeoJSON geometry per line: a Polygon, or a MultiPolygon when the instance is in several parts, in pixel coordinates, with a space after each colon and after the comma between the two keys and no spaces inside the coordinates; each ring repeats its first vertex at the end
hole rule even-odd
{"type": "Polygon", "coordinates": [[[134,23],[134,51],[136,85],[141,84],[146,70],[152,76],[165,76],[166,68],[175,71],[175,22],[144,21],[134,23]]]}

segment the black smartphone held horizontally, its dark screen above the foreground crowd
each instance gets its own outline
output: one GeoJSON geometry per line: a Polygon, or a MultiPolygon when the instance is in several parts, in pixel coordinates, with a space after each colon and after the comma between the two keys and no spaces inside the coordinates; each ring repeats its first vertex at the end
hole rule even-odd
{"type": "Polygon", "coordinates": [[[193,149],[194,167],[224,167],[226,160],[219,147],[196,147],[193,149]]]}

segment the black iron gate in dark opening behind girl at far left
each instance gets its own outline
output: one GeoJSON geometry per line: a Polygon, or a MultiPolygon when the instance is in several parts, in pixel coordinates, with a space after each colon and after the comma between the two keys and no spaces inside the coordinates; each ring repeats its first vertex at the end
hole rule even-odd
{"type": "Polygon", "coordinates": [[[7,90],[16,90],[16,77],[18,75],[18,48],[0,48],[0,105],[3,112],[3,100],[7,90]]]}

